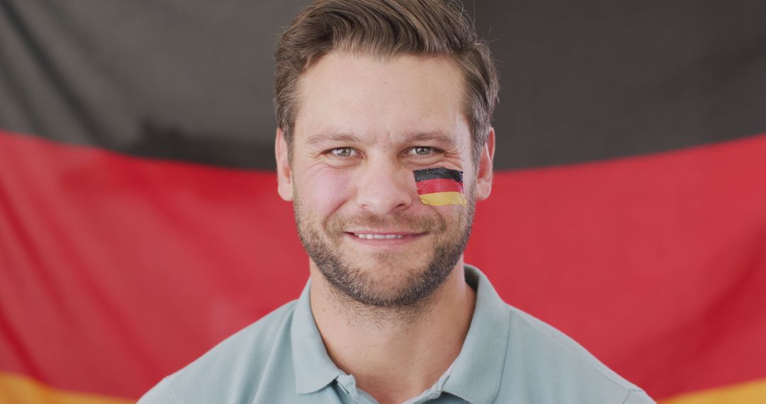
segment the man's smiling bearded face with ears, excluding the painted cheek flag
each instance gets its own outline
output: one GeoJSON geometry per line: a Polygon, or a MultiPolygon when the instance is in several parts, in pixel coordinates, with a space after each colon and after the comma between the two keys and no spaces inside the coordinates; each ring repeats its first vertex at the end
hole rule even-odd
{"type": "Polygon", "coordinates": [[[491,184],[491,152],[478,173],[471,159],[459,68],[332,53],[298,93],[292,161],[278,131],[277,169],[312,266],[356,301],[416,304],[462,265],[476,197],[491,184]],[[463,171],[466,206],[421,203],[413,170],[430,167],[463,171]]]}

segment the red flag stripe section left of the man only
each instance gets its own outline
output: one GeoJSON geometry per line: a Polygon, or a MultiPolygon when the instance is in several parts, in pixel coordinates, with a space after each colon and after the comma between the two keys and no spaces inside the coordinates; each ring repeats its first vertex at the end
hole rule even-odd
{"type": "Polygon", "coordinates": [[[135,398],[298,295],[274,184],[0,135],[0,369],[135,398]]]}

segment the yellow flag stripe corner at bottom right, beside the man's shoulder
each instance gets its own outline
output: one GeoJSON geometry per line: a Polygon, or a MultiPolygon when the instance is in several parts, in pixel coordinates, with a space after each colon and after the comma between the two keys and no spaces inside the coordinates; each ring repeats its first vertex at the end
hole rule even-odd
{"type": "Polygon", "coordinates": [[[766,379],[662,399],[660,404],[764,404],[766,379]]]}

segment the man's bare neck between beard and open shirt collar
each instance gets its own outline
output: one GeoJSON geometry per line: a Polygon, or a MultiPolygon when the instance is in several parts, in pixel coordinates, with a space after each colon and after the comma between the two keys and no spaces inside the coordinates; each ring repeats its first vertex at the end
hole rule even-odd
{"type": "Polygon", "coordinates": [[[422,305],[404,309],[349,301],[319,271],[311,272],[311,308],[329,357],[378,402],[417,396],[460,353],[476,301],[462,259],[422,305]]]}

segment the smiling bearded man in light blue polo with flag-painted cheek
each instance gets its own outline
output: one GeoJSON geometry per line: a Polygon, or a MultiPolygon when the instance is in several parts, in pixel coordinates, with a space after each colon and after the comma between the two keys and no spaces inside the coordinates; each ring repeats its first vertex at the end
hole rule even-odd
{"type": "Polygon", "coordinates": [[[463,264],[498,83],[455,2],[318,1],[276,76],[309,285],[141,402],[652,402],[463,264]]]}

